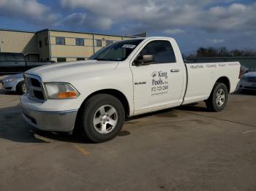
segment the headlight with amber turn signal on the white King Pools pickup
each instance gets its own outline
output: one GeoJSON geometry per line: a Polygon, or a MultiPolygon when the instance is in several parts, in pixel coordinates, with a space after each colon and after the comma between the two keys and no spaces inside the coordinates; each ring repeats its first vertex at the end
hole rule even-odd
{"type": "Polygon", "coordinates": [[[53,82],[45,83],[47,96],[49,99],[72,99],[80,95],[75,87],[69,83],[53,82]]]}

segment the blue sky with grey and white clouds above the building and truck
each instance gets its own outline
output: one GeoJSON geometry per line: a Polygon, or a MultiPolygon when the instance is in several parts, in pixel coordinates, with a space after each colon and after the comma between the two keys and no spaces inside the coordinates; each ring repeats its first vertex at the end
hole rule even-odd
{"type": "Polygon", "coordinates": [[[198,47],[256,50],[256,0],[0,0],[0,28],[170,36],[198,47]]]}

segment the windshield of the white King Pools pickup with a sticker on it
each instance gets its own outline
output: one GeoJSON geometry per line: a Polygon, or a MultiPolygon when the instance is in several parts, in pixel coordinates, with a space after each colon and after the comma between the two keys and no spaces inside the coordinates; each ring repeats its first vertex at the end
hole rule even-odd
{"type": "Polygon", "coordinates": [[[134,50],[142,41],[143,39],[132,39],[116,42],[99,50],[92,55],[89,60],[124,61],[131,54],[132,50],[134,50]]]}

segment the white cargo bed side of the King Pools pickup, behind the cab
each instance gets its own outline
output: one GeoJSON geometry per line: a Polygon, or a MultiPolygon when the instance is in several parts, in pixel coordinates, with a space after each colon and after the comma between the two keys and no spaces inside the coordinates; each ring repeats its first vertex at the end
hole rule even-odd
{"type": "Polygon", "coordinates": [[[229,93],[236,90],[239,81],[240,63],[185,63],[187,69],[187,92],[183,104],[206,100],[212,87],[220,77],[227,77],[230,82],[229,93]]]}

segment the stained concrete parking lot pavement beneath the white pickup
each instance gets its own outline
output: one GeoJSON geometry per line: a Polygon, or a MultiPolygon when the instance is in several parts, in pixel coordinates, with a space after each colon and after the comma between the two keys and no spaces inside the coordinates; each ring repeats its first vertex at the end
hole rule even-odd
{"type": "MultiPolygon", "coordinates": [[[[0,87],[1,88],[1,87],[0,87]]],[[[256,190],[256,94],[127,121],[113,141],[42,133],[0,90],[0,190],[256,190]]]]}

